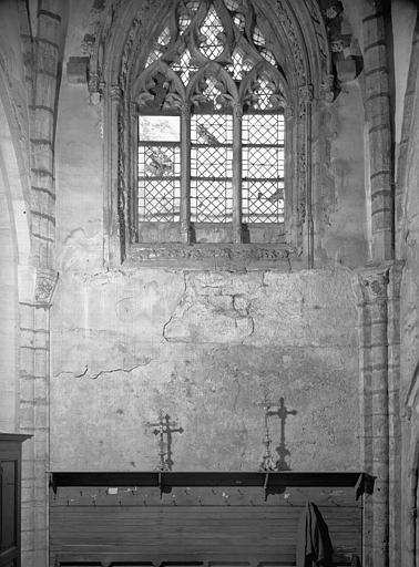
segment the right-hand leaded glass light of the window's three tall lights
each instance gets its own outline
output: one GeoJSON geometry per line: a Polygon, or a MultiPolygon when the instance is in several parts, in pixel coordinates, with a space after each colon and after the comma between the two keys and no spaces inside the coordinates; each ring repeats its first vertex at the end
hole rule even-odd
{"type": "Polygon", "coordinates": [[[244,223],[284,219],[284,116],[243,116],[242,210],[244,223]]]}

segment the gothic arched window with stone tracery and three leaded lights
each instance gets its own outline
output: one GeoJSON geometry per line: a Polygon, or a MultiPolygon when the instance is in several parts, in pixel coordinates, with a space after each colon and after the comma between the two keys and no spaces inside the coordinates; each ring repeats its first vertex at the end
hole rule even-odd
{"type": "Polygon", "coordinates": [[[135,239],[257,241],[284,223],[287,83],[252,4],[181,0],[156,35],[131,91],[135,239]]]}

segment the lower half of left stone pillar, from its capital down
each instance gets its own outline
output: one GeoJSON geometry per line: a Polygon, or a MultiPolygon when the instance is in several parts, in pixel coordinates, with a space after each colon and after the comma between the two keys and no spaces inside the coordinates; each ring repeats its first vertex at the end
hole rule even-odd
{"type": "Polygon", "coordinates": [[[57,275],[33,272],[34,293],[20,298],[20,432],[22,449],[22,567],[48,565],[49,310],[57,275]]]}

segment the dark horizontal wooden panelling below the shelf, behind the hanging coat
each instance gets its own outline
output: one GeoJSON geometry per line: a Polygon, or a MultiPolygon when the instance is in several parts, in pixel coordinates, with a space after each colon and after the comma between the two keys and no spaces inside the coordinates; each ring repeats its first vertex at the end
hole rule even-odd
{"type": "Polygon", "coordinates": [[[95,558],[105,565],[295,565],[297,525],[307,499],[319,504],[336,565],[349,565],[351,554],[361,555],[361,508],[351,488],[295,488],[267,502],[260,488],[182,488],[162,496],[152,488],[116,494],[60,488],[51,499],[50,549],[52,557],[95,558]]]}

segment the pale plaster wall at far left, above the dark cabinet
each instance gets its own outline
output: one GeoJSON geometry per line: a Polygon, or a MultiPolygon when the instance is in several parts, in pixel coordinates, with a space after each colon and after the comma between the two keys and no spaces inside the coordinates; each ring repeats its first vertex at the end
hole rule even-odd
{"type": "MultiPolygon", "coordinates": [[[[21,179],[29,156],[27,99],[16,2],[0,2],[0,431],[19,429],[19,254],[28,251],[21,179]],[[23,250],[24,248],[24,250],[23,250]]],[[[21,255],[22,259],[24,254],[21,255]]]]}

